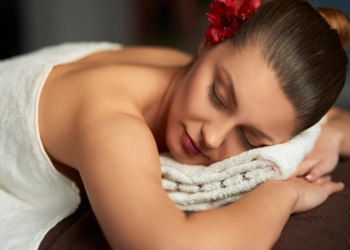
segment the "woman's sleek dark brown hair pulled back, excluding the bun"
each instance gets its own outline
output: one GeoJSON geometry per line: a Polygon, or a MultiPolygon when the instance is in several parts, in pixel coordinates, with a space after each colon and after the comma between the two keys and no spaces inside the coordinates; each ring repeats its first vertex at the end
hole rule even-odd
{"type": "Polygon", "coordinates": [[[295,110],[293,135],[317,123],[344,86],[348,59],[338,33],[308,2],[263,4],[231,38],[258,48],[295,110]]]}

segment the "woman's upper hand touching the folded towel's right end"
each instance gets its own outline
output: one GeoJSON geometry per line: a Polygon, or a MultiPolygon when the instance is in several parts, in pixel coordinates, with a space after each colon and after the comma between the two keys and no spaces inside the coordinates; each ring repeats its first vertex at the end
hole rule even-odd
{"type": "Polygon", "coordinates": [[[339,131],[325,125],[314,149],[292,176],[303,176],[307,181],[314,182],[332,172],[339,161],[340,136],[339,131]]]}

